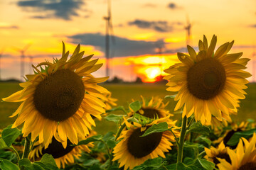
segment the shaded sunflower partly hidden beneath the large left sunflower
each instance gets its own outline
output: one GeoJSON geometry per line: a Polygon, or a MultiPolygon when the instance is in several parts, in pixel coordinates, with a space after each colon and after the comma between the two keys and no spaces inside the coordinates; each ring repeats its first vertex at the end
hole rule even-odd
{"type": "Polygon", "coordinates": [[[82,151],[90,152],[89,147],[94,146],[92,143],[89,143],[87,145],[79,145],[79,146],[72,146],[71,144],[72,143],[68,140],[68,145],[66,148],[64,148],[61,142],[58,142],[57,140],[55,140],[54,137],[52,142],[47,148],[43,147],[43,144],[40,144],[39,142],[37,142],[35,147],[29,153],[28,159],[35,161],[35,160],[41,159],[43,154],[51,154],[57,166],[59,168],[62,166],[64,169],[65,164],[75,163],[75,158],[78,159],[81,156],[82,151]]]}

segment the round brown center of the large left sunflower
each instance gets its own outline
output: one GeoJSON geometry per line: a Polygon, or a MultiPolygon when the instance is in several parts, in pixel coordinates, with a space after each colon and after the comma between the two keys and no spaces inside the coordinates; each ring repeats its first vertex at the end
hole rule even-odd
{"type": "Polygon", "coordinates": [[[84,96],[81,78],[69,69],[60,69],[36,86],[33,101],[45,118],[62,121],[78,111],[84,96]]]}

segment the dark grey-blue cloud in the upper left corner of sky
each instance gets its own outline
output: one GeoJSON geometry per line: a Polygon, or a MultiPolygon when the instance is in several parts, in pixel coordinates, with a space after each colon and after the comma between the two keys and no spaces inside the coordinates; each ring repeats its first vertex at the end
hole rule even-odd
{"type": "Polygon", "coordinates": [[[26,0],[18,1],[17,5],[29,11],[33,12],[46,12],[43,16],[33,16],[32,18],[62,18],[64,20],[70,20],[73,16],[78,16],[78,10],[84,4],[82,0],[26,0]]]}

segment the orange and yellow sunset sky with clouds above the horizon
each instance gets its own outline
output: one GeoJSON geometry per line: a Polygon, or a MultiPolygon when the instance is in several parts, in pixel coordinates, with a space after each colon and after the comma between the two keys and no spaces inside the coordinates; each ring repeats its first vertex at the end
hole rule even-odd
{"type": "MultiPolygon", "coordinates": [[[[110,78],[152,81],[178,61],[176,52],[186,52],[188,20],[189,44],[196,49],[203,35],[210,39],[215,34],[217,46],[235,40],[231,52],[244,52],[251,59],[256,53],[255,0],[112,0],[111,6],[115,44],[110,44],[110,78]]],[[[1,79],[21,79],[17,49],[26,45],[25,74],[32,72],[30,58],[38,64],[60,57],[62,41],[70,52],[80,43],[85,55],[105,62],[104,16],[107,0],[1,0],[1,79]]],[[[250,73],[252,64],[247,64],[250,73]]],[[[104,77],[105,67],[95,76],[104,77]]]]}

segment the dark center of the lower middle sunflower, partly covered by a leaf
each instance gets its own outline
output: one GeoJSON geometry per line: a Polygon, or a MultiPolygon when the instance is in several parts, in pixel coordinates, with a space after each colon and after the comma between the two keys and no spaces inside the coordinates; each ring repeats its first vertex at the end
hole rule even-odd
{"type": "Polygon", "coordinates": [[[144,132],[141,132],[141,128],[137,128],[132,132],[127,142],[129,153],[136,158],[142,158],[150,154],[161,142],[162,132],[155,132],[151,135],[140,137],[144,132]]]}

